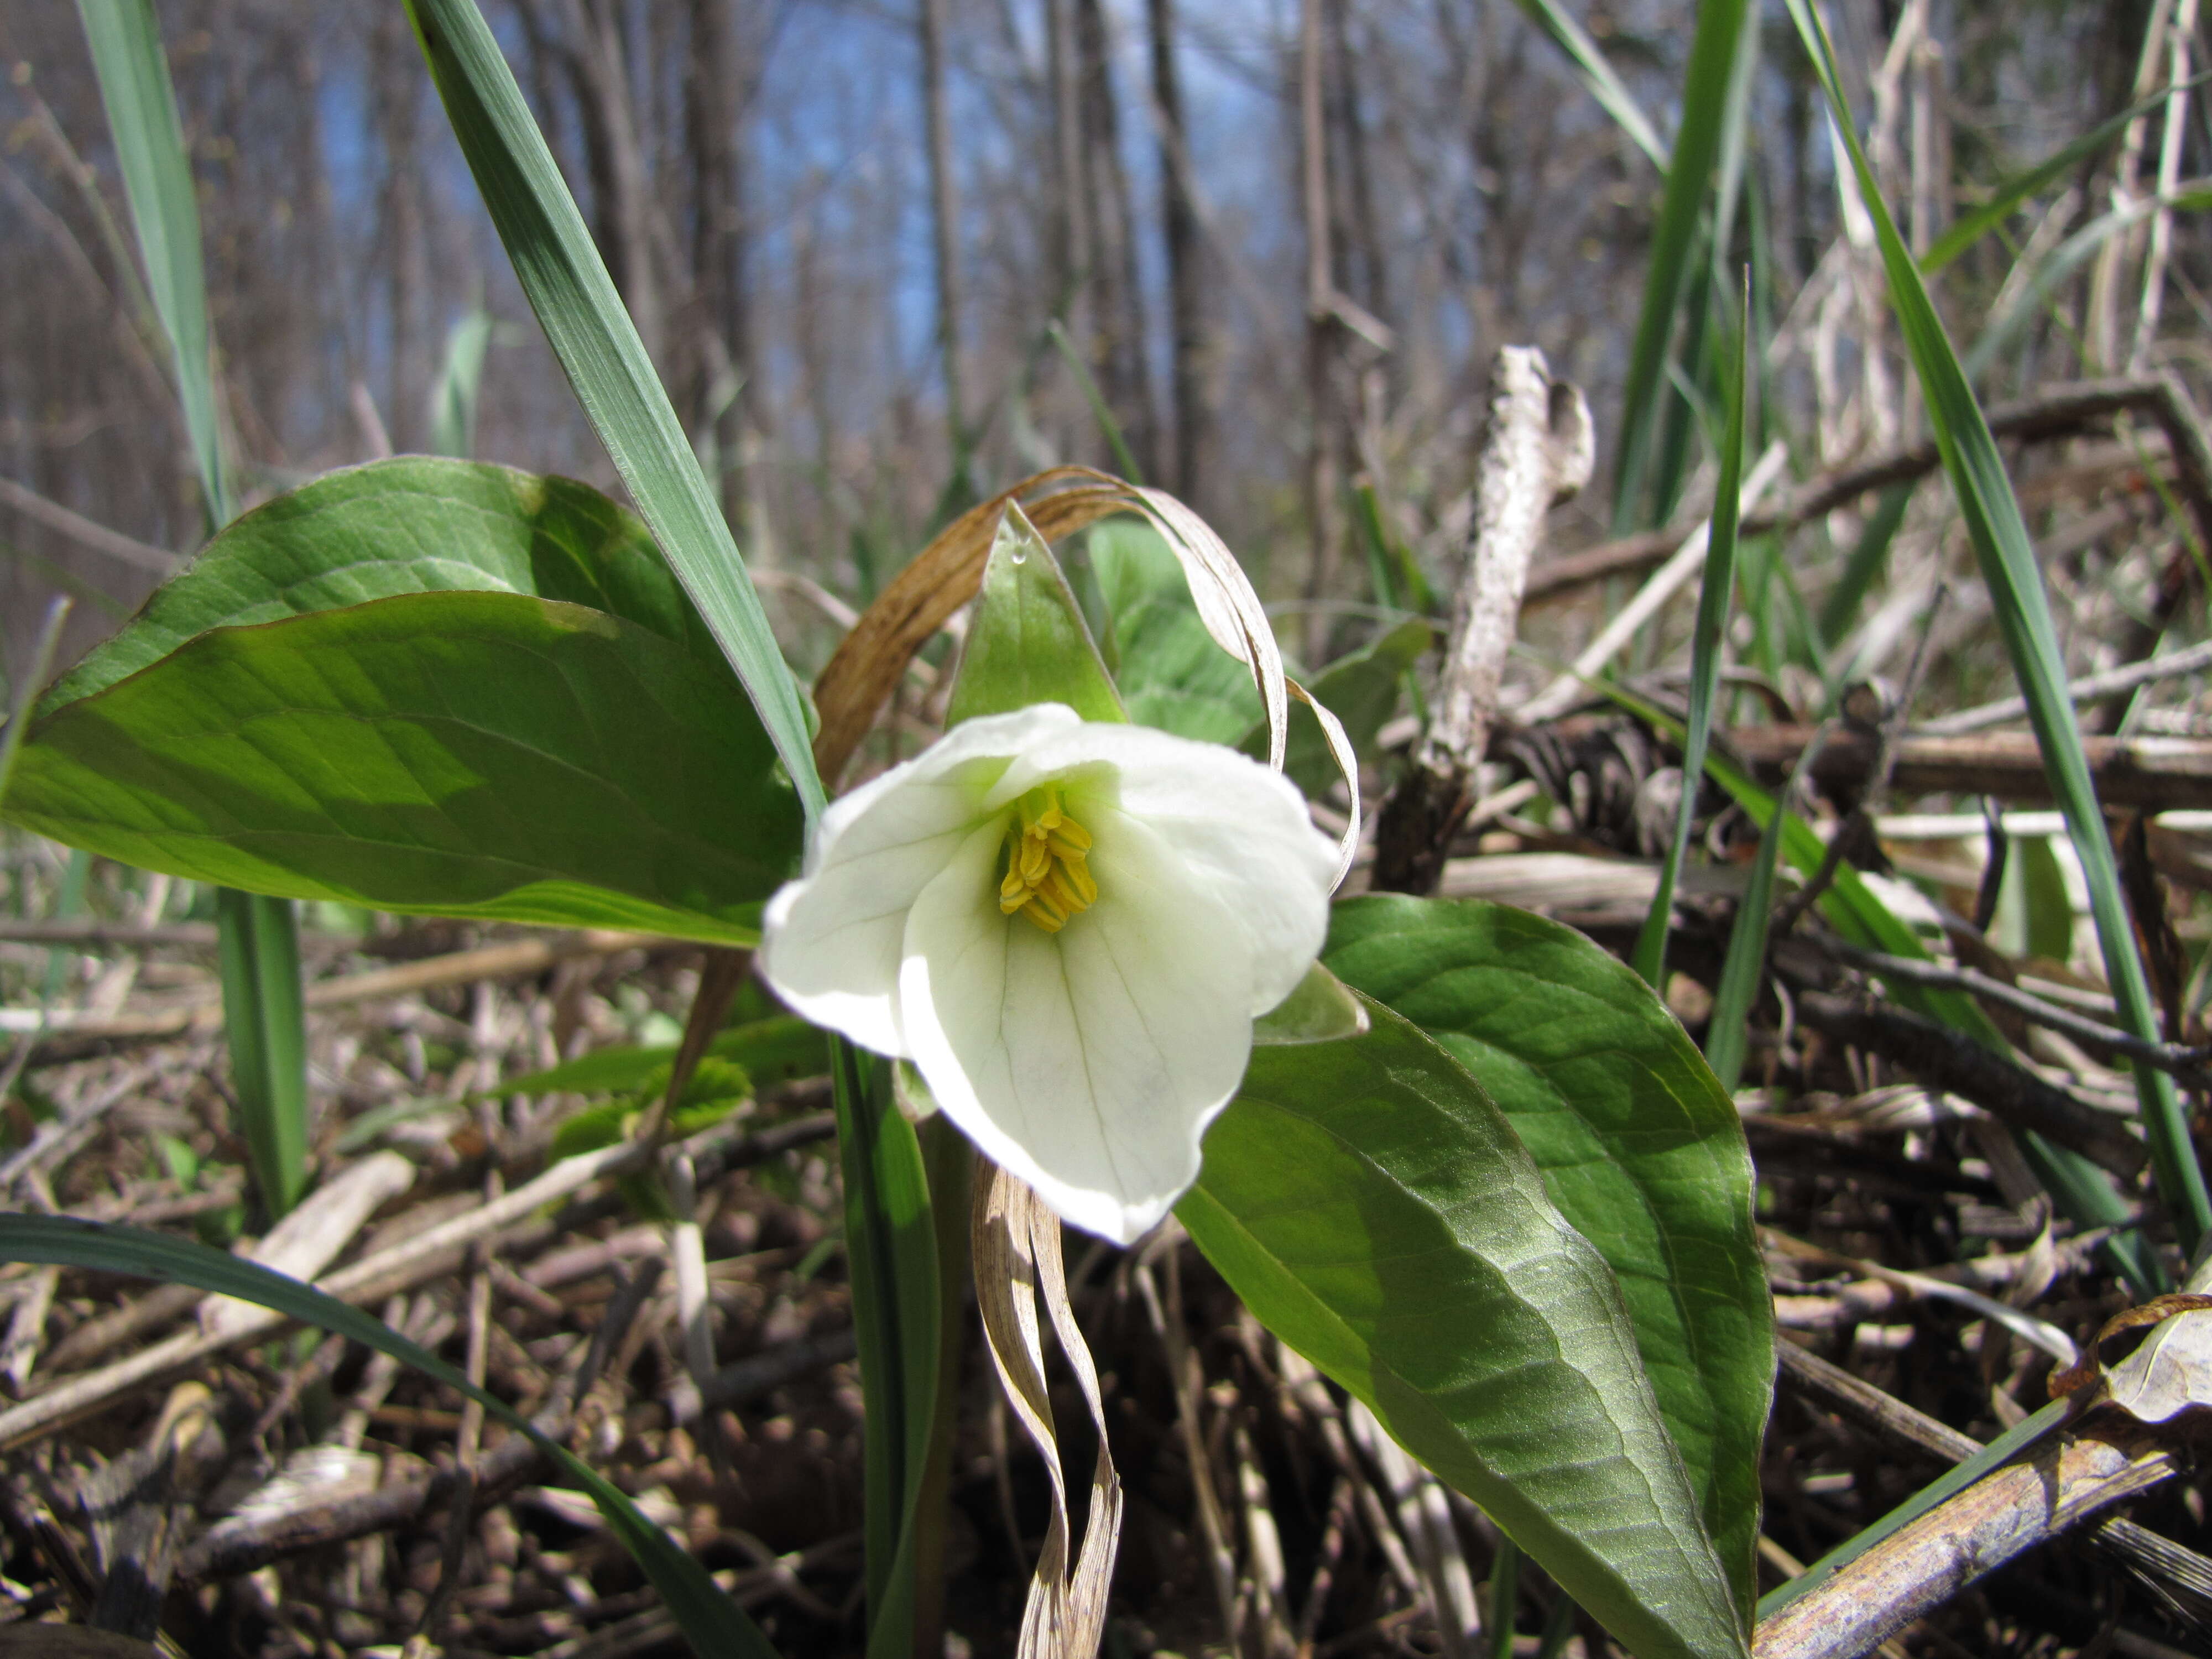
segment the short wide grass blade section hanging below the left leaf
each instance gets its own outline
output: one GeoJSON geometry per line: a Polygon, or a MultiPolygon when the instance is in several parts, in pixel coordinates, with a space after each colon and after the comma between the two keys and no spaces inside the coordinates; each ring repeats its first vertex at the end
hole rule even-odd
{"type": "Polygon", "coordinates": [[[230,1086],[270,1221],[307,1190],[307,1015],[290,898],[215,891],[230,1086]]]}

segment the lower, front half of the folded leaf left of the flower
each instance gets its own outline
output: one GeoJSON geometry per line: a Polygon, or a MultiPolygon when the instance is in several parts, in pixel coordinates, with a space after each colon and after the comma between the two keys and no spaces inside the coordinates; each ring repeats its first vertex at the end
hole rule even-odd
{"type": "Polygon", "coordinates": [[[799,854],[721,664],[518,593],[199,635],[35,726],[0,805],[195,880],[717,945],[799,854]]]}

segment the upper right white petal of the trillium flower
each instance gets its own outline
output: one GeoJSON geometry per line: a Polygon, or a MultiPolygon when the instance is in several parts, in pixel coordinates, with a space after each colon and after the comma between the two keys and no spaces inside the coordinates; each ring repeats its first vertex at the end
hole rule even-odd
{"type": "Polygon", "coordinates": [[[1336,843],[1314,827],[1298,787],[1219,743],[1150,726],[1077,726],[1024,750],[991,801],[1084,765],[1113,768],[1119,810],[1175,847],[1234,916],[1252,951],[1248,1013],[1287,998],[1321,956],[1336,885],[1336,843]]]}

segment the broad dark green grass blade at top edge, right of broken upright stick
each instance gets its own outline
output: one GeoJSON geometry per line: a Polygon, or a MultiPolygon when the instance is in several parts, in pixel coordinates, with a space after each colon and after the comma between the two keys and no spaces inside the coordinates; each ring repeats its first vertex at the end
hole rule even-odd
{"type": "Polygon", "coordinates": [[[1648,515],[1652,451],[1672,392],[1666,374],[1668,349],[1690,285],[1703,281],[1703,261],[1697,259],[1699,221],[1705,217],[1728,128],[1728,97],[1743,20],[1745,0],[1701,0],[1697,9],[1697,35],[1690,42],[1690,69],[1681,91],[1681,128],[1674,133],[1621,394],[1621,451],[1613,473],[1613,526],[1621,533],[1637,529],[1648,515]]]}

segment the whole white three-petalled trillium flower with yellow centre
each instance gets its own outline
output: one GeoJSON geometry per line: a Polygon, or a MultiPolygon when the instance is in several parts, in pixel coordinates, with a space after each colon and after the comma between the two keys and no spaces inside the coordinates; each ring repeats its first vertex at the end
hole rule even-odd
{"type": "Polygon", "coordinates": [[[1334,883],[1287,779],[1040,703],[832,803],[768,902],[761,971],[807,1020],[911,1060],[1064,1219],[1130,1243],[1197,1179],[1334,883]]]}

